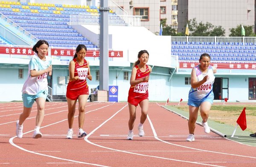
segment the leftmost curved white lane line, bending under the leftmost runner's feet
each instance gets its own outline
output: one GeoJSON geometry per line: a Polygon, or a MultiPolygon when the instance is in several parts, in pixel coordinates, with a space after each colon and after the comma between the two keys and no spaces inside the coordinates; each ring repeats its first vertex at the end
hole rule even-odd
{"type": "MultiPolygon", "coordinates": [[[[88,112],[86,112],[86,113],[90,113],[90,112],[92,112],[92,111],[99,110],[99,109],[102,109],[102,108],[105,108],[105,107],[108,107],[108,106],[109,106],[109,105],[105,105],[105,106],[103,106],[103,107],[101,107],[101,108],[97,108],[97,109],[94,109],[94,110],[90,110],[90,111],[88,111],[88,112]]],[[[77,117],[77,116],[75,116],[75,117],[77,117]]],[[[61,121],[59,121],[59,122],[55,122],[55,123],[46,125],[46,126],[44,126],[44,127],[48,127],[48,126],[51,126],[51,125],[55,125],[55,124],[58,124],[58,123],[64,122],[64,121],[67,121],[67,119],[63,119],[63,120],[61,120],[61,121]]],[[[41,128],[44,128],[44,127],[41,127],[41,128]]],[[[32,132],[32,131],[34,131],[34,130],[30,130],[30,131],[28,131],[28,132],[26,132],[26,133],[30,133],[30,132],[32,132]]],[[[26,134],[26,133],[23,133],[23,134],[26,134]]],[[[28,153],[33,153],[33,154],[37,154],[37,155],[40,155],[40,156],[47,156],[47,157],[50,157],[50,158],[53,158],[53,159],[60,159],[60,160],[64,160],[64,161],[75,162],[75,163],[79,163],[79,164],[88,164],[88,165],[93,165],[93,166],[98,166],[98,167],[108,167],[108,166],[105,166],[105,165],[92,164],[92,163],[87,163],[87,162],[82,162],[82,161],[75,161],[75,160],[72,160],[72,159],[64,159],[64,158],[60,158],[60,157],[56,157],[56,156],[49,156],[49,155],[47,155],[47,154],[37,153],[37,152],[35,152],[35,151],[26,150],[25,148],[20,147],[20,146],[18,146],[17,144],[15,144],[15,143],[13,142],[13,139],[15,139],[16,137],[17,137],[17,136],[14,136],[14,137],[10,138],[10,139],[9,139],[9,143],[12,144],[14,147],[17,147],[18,149],[23,150],[23,151],[26,151],[26,152],[28,152],[28,153]]]]}

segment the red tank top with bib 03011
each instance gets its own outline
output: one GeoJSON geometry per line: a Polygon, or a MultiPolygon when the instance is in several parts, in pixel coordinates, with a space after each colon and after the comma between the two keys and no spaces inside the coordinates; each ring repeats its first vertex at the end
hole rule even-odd
{"type": "MultiPolygon", "coordinates": [[[[148,65],[146,65],[145,72],[141,72],[138,65],[135,65],[135,68],[137,69],[135,80],[143,79],[146,76],[149,76],[149,74],[150,74],[148,65]]],[[[129,89],[129,96],[134,96],[134,97],[148,96],[148,81],[141,82],[137,85],[131,86],[129,89]]]]}

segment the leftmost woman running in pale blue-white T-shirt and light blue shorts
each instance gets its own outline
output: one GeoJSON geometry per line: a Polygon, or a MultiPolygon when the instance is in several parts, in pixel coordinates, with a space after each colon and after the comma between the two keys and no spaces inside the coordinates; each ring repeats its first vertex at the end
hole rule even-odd
{"type": "Polygon", "coordinates": [[[23,136],[23,122],[29,117],[32,105],[37,103],[37,115],[35,120],[35,131],[33,138],[41,138],[39,131],[44,119],[44,105],[48,95],[47,76],[52,75],[52,59],[47,55],[49,44],[45,40],[39,40],[32,48],[35,55],[29,61],[28,78],[22,88],[23,113],[20,114],[19,121],[16,122],[16,135],[23,136]]]}

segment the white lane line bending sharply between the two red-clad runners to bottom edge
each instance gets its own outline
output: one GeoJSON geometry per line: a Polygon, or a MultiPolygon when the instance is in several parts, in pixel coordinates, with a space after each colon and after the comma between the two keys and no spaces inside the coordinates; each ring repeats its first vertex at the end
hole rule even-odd
{"type": "Polygon", "coordinates": [[[126,104],[123,108],[121,108],[116,113],[114,113],[113,116],[108,118],[101,125],[99,125],[93,131],[91,131],[87,136],[84,137],[84,140],[87,143],[93,144],[95,146],[102,147],[102,148],[105,148],[105,149],[108,149],[108,150],[114,150],[114,151],[122,152],[122,153],[129,153],[129,154],[134,154],[134,155],[138,155],[138,156],[146,156],[146,157],[152,157],[152,158],[157,158],[157,159],[165,159],[165,160],[172,160],[172,161],[179,161],[179,162],[187,162],[187,163],[191,163],[191,164],[201,164],[201,165],[208,165],[208,166],[213,166],[213,167],[222,167],[222,166],[218,166],[218,165],[204,164],[204,163],[198,163],[198,162],[192,162],[192,161],[183,161],[183,160],[179,160],[179,159],[169,159],[169,158],[164,158],[164,157],[159,157],[159,156],[149,156],[149,155],[146,155],[146,154],[132,153],[132,152],[125,151],[125,150],[117,150],[117,149],[113,149],[113,148],[110,148],[110,147],[105,147],[105,146],[102,146],[102,145],[99,145],[99,144],[95,144],[93,142],[90,142],[90,140],[88,140],[88,137],[90,137],[90,135],[92,135],[96,130],[98,130],[100,127],[102,127],[106,122],[108,122],[110,119],[112,119],[114,116],[116,116],[116,114],[119,113],[121,110],[123,110],[127,105],[128,104],[126,104]]]}

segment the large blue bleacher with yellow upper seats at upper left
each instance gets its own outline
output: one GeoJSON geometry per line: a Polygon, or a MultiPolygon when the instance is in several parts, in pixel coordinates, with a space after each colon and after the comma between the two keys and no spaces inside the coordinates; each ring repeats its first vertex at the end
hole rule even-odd
{"type": "Polygon", "coordinates": [[[67,24],[70,14],[98,14],[96,6],[0,1],[0,12],[38,39],[47,40],[50,46],[70,48],[84,44],[97,48],[67,24]]]}

